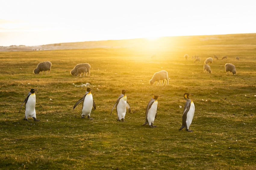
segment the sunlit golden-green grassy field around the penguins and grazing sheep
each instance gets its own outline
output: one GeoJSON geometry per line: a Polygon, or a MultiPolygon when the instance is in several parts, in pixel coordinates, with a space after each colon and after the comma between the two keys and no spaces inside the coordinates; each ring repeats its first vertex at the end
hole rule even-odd
{"type": "Polygon", "coordinates": [[[256,169],[256,40],[183,41],[165,49],[0,52],[0,169],[256,169]],[[204,60],[214,55],[228,58],[203,73],[204,60]],[[50,75],[33,73],[42,61],[52,62],[50,75]],[[72,77],[83,62],[91,75],[72,77]],[[236,65],[235,76],[226,75],[226,63],[236,65]],[[150,86],[160,70],[169,85],[150,86]],[[93,120],[81,118],[81,103],[73,109],[86,83],[96,103],[93,120]],[[31,88],[39,122],[22,120],[24,106],[18,113],[31,88]],[[117,122],[116,111],[110,115],[122,89],[131,106],[127,122],[117,122]],[[185,92],[195,95],[192,133],[178,131],[185,92]],[[157,128],[142,126],[153,95],[164,95],[157,128]]]}

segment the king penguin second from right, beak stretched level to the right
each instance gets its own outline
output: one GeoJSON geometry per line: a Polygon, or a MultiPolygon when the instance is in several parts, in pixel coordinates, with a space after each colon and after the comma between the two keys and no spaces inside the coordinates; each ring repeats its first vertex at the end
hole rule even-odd
{"type": "MultiPolygon", "coordinates": [[[[163,95],[161,95],[163,96],[163,95]]],[[[145,119],[145,123],[142,125],[146,125],[148,124],[150,127],[157,127],[154,124],[154,120],[157,117],[157,104],[158,104],[158,97],[160,96],[153,96],[151,98],[151,100],[148,103],[148,106],[146,107],[146,119],[145,119]]]]}

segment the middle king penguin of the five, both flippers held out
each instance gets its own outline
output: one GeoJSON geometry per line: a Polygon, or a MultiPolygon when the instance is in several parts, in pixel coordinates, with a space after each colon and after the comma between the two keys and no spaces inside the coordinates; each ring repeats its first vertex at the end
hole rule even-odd
{"type": "MultiPolygon", "coordinates": [[[[128,108],[128,112],[130,113],[131,112],[131,107],[129,105],[129,103],[127,102],[127,97],[125,95],[125,92],[128,91],[128,90],[122,90],[121,91],[121,94],[120,96],[118,97],[116,103],[114,104],[112,110],[111,110],[111,113],[112,111],[114,110],[115,106],[116,106],[116,109],[117,109],[117,121],[121,121],[124,122],[124,117],[125,117],[125,114],[126,114],[126,107],[128,108]]],[[[110,113],[110,115],[111,115],[110,113]]]]}

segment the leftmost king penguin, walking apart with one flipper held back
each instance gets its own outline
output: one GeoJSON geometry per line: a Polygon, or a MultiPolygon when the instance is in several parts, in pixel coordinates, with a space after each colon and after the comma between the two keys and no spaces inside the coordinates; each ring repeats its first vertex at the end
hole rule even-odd
{"type": "MultiPolygon", "coordinates": [[[[27,120],[27,118],[33,118],[34,121],[40,121],[36,119],[36,94],[35,94],[35,89],[31,89],[30,92],[28,93],[26,99],[22,103],[21,107],[25,103],[25,118],[23,120],[27,120]]],[[[20,109],[21,109],[20,107],[20,109]]],[[[20,112],[20,110],[19,110],[20,112]]]]}

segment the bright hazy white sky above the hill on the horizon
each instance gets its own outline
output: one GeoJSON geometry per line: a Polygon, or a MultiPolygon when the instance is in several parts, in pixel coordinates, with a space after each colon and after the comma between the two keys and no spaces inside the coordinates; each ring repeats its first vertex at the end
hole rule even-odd
{"type": "Polygon", "coordinates": [[[0,46],[256,33],[255,0],[0,0],[0,46]]]}

